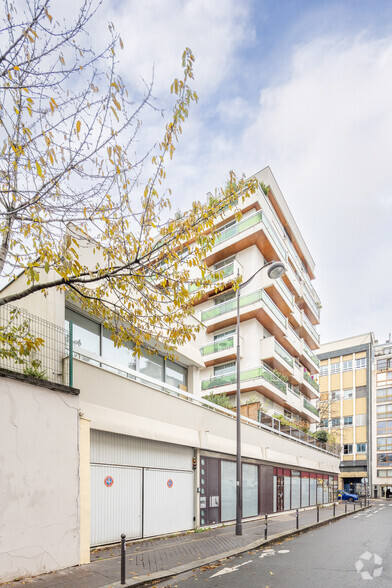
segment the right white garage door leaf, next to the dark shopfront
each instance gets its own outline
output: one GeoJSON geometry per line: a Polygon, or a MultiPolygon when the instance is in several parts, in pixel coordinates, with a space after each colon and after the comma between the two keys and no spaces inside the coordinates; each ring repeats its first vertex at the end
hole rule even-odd
{"type": "Polygon", "coordinates": [[[144,537],[193,529],[193,472],[144,470],[144,537]]]}

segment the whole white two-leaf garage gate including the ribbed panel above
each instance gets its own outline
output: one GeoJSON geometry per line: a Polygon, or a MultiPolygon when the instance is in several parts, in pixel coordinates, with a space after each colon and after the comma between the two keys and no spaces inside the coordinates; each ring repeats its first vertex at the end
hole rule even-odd
{"type": "Polygon", "coordinates": [[[91,430],[91,545],[194,526],[193,449],[91,430]]]}

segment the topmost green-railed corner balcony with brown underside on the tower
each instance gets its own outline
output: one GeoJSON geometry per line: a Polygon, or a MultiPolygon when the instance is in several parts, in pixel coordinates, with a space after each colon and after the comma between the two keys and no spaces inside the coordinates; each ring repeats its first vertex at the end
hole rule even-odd
{"type": "Polygon", "coordinates": [[[238,222],[232,220],[218,231],[213,250],[206,258],[209,266],[252,245],[259,248],[267,261],[286,260],[282,239],[262,210],[248,214],[238,222]]]}

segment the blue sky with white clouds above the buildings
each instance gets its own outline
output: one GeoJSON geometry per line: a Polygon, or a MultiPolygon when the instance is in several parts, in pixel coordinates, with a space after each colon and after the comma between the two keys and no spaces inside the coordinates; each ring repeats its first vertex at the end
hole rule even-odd
{"type": "MultiPolygon", "coordinates": [[[[58,1],[58,0],[57,0],[58,1]]],[[[73,0],[76,5],[77,0],[73,0]]],[[[56,4],[56,2],[54,2],[56,4]]],[[[316,262],[321,342],[392,331],[392,2],[103,0],[131,94],[154,70],[170,112],[181,54],[192,107],[168,167],[173,208],[269,165],[316,262]]],[[[147,115],[143,141],[162,137],[147,115]]]]}

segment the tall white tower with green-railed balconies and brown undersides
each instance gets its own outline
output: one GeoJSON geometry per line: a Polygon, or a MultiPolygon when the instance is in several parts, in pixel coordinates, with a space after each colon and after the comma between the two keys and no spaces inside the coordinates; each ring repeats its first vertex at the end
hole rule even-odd
{"type": "Polygon", "coordinates": [[[286,266],[282,278],[270,279],[262,271],[241,292],[241,404],[253,418],[282,415],[310,426],[319,421],[315,376],[320,301],[312,285],[314,261],[270,168],[255,177],[259,189],[242,205],[238,222],[234,211],[227,211],[206,259],[208,266],[223,272],[226,288],[218,294],[210,288],[196,307],[205,325],[198,339],[205,365],[201,394],[226,394],[235,405],[232,282],[238,274],[245,282],[266,262],[279,260],[286,266]]]}

